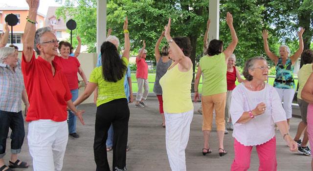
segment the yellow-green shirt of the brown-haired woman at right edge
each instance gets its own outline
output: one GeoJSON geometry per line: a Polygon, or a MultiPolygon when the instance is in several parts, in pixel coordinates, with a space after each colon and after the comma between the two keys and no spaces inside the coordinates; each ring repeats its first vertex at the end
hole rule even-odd
{"type": "Polygon", "coordinates": [[[299,89],[298,89],[298,94],[297,94],[298,99],[301,99],[301,91],[305,83],[308,81],[310,75],[313,72],[312,65],[313,64],[304,64],[302,65],[302,67],[300,68],[298,72],[298,84],[299,84],[299,89]]]}

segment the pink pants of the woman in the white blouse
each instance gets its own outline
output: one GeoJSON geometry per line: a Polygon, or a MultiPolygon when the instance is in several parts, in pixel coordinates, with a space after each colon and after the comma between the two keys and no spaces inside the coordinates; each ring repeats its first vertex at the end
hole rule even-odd
{"type": "MultiPolygon", "coordinates": [[[[276,138],[255,147],[260,161],[259,171],[276,171],[276,138]]],[[[252,148],[253,146],[244,146],[236,139],[234,140],[235,159],[230,171],[247,171],[249,169],[252,148]]]]}

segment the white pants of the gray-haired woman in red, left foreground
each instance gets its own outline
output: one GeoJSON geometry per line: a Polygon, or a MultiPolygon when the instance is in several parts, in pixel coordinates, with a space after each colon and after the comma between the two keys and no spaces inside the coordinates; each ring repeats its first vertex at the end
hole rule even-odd
{"type": "Polygon", "coordinates": [[[34,171],[62,170],[68,140],[67,121],[31,121],[27,139],[34,171]]]}

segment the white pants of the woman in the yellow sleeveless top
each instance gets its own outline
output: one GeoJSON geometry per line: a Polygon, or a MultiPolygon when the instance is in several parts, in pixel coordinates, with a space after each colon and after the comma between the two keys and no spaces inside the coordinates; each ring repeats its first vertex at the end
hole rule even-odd
{"type": "Polygon", "coordinates": [[[185,149],[193,114],[193,109],[183,113],[164,112],[166,152],[172,171],[186,171],[185,149]]]}

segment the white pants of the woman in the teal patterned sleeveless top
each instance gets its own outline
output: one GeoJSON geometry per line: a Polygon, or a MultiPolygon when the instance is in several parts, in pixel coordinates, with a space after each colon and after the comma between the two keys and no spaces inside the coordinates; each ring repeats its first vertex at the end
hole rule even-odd
{"type": "Polygon", "coordinates": [[[284,102],[283,107],[286,112],[286,118],[290,119],[292,117],[292,99],[294,96],[294,89],[282,89],[282,88],[275,88],[278,92],[278,95],[282,102],[284,102]]]}

